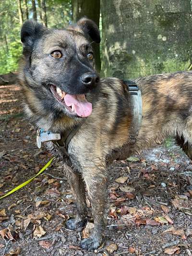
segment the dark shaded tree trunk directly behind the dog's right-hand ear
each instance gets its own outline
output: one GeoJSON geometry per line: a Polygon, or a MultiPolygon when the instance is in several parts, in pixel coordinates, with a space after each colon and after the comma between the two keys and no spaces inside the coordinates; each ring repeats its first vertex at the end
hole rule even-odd
{"type": "MultiPolygon", "coordinates": [[[[99,27],[100,18],[100,0],[72,0],[72,18],[73,22],[77,22],[80,18],[86,16],[93,20],[99,27]]],[[[100,72],[100,49],[99,45],[93,43],[95,53],[96,70],[100,72]]]]}

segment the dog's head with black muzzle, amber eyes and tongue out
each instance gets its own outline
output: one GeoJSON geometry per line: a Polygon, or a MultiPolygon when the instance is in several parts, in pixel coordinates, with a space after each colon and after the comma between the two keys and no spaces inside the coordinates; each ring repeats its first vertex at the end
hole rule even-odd
{"type": "Polygon", "coordinates": [[[59,30],[28,20],[21,41],[24,61],[19,78],[27,109],[44,116],[89,116],[100,84],[92,49],[93,42],[100,43],[96,24],[82,18],[59,30]]]}

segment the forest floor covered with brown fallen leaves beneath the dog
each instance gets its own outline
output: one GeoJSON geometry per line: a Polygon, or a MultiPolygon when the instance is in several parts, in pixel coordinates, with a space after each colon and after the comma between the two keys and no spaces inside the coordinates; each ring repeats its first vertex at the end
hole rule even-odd
{"type": "MultiPolygon", "coordinates": [[[[18,85],[0,85],[0,195],[34,176],[50,159],[36,146],[36,129],[24,119],[18,85]]],[[[167,140],[138,158],[110,168],[105,243],[95,252],[80,247],[93,223],[70,231],[72,191],[52,164],[32,183],[0,200],[0,255],[164,256],[192,255],[192,163],[167,140]],[[119,179],[118,179],[119,178],[119,179]]]]}

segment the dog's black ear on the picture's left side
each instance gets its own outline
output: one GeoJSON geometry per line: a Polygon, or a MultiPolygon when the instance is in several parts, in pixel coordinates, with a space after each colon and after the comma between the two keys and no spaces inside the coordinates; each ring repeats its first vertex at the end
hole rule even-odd
{"type": "Polygon", "coordinates": [[[42,24],[37,23],[33,19],[27,20],[21,29],[21,41],[25,47],[32,47],[35,40],[40,37],[44,30],[42,24]]]}

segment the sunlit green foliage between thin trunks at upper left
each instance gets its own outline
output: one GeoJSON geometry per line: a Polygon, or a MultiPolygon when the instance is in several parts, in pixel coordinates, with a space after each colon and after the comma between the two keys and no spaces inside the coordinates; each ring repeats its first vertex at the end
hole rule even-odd
{"type": "MultiPolygon", "coordinates": [[[[41,22],[43,11],[36,0],[37,20],[41,22]]],[[[26,13],[24,0],[21,0],[24,21],[26,13]]],[[[32,2],[27,0],[29,18],[33,17],[32,2]]],[[[72,21],[71,0],[47,0],[46,12],[48,27],[64,28],[72,21]]],[[[17,0],[0,0],[0,74],[16,71],[22,53],[20,41],[21,24],[17,0]]]]}

